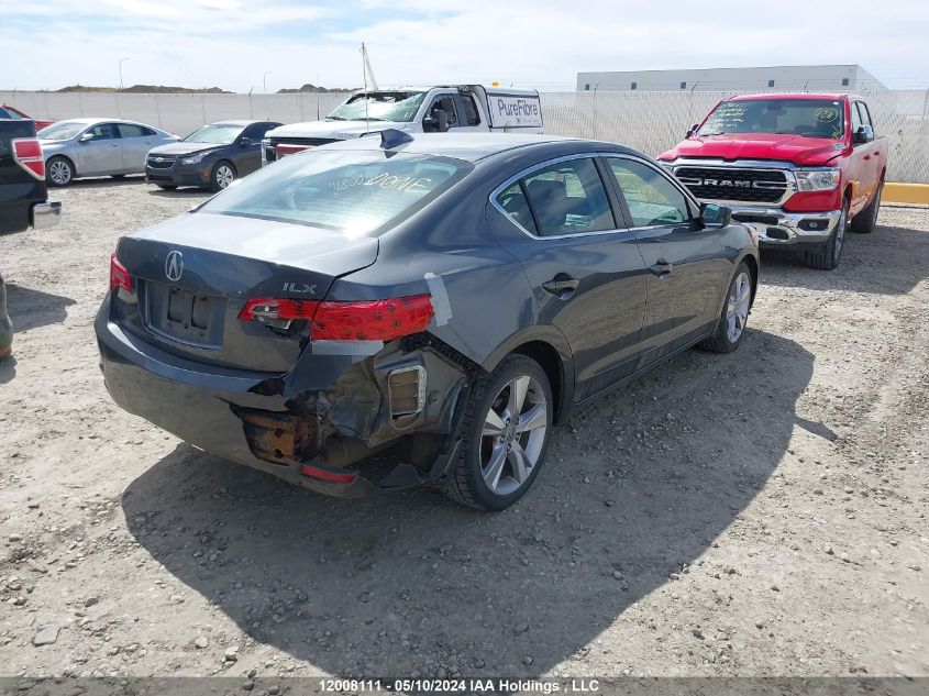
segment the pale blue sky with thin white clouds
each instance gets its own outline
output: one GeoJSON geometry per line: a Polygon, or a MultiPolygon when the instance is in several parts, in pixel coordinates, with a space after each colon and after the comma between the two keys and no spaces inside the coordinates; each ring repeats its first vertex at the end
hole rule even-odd
{"type": "Polygon", "coordinates": [[[134,84],[277,91],[578,71],[860,64],[929,87],[925,0],[0,0],[0,90],[134,84]]]}

